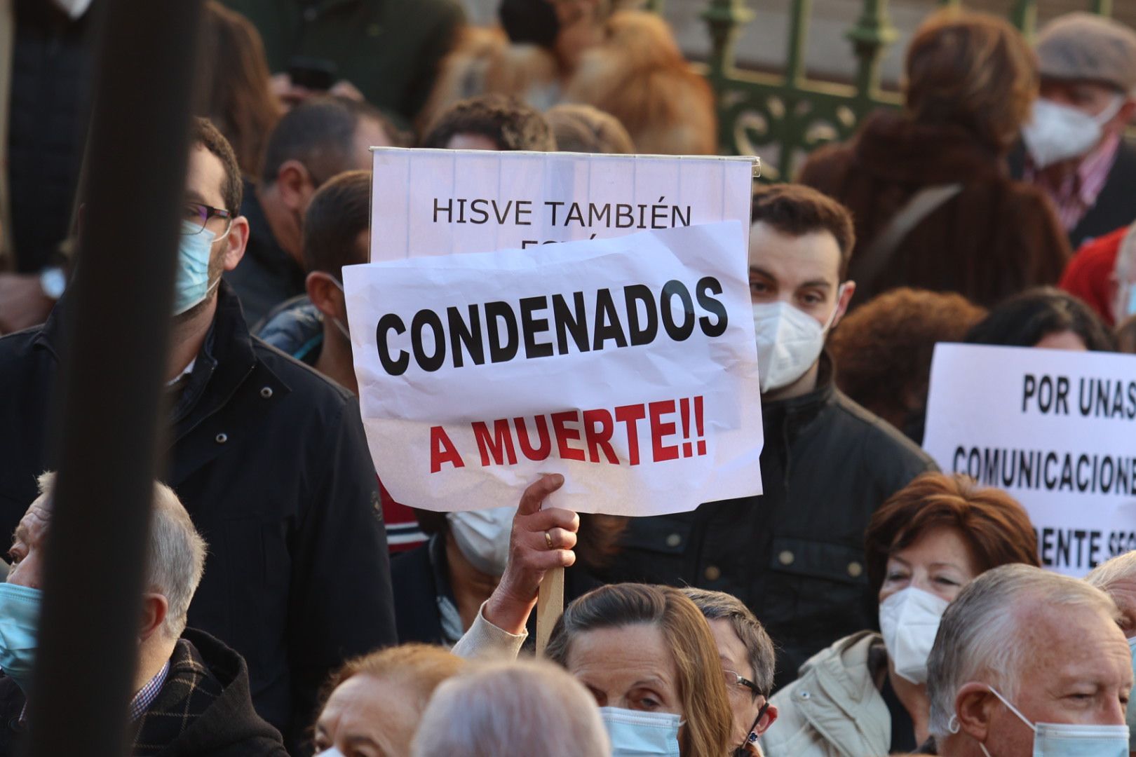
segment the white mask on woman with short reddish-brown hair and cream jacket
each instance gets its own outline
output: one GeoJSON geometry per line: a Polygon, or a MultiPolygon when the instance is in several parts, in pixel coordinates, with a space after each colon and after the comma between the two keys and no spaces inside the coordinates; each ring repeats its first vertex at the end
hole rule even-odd
{"type": "Polygon", "coordinates": [[[912,683],[927,682],[927,657],[947,604],[913,586],[879,604],[879,630],[896,675],[912,683]]]}

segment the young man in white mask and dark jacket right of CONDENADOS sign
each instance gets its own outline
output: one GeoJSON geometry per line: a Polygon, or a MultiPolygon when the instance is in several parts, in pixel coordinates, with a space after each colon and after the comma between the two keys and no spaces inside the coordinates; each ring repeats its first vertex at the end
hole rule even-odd
{"type": "Polygon", "coordinates": [[[760,190],[750,293],[761,380],[765,494],[633,518],[609,580],[726,591],[779,645],[777,683],[836,639],[877,625],[863,567],[872,512],[935,464],[833,384],[824,351],[855,291],[840,203],[801,185],[760,190]]]}

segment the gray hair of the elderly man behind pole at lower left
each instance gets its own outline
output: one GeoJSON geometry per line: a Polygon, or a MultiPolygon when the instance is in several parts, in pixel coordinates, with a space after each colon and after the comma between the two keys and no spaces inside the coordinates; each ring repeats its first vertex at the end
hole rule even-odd
{"type": "MultiPolygon", "coordinates": [[[[53,471],[39,479],[40,499],[49,499],[55,489],[53,471]]],[[[176,639],[185,630],[185,614],[206,567],[206,540],[198,533],[190,514],[174,490],[153,482],[150,540],[147,546],[147,591],[160,594],[168,605],[161,630],[176,639]]]]}

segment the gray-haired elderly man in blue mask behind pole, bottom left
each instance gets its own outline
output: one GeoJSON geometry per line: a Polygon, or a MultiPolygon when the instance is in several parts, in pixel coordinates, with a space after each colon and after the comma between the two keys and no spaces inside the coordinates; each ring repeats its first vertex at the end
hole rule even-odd
{"type": "MultiPolygon", "coordinates": [[[[0,583],[0,755],[16,754],[28,722],[43,550],[51,530],[55,473],[24,513],[0,583]]],[[[287,757],[279,732],[252,709],[244,659],[208,633],[185,628],[204,571],[206,542],[174,490],[154,483],[130,703],[132,754],[287,757]]],[[[81,629],[76,629],[81,633],[81,629]]],[[[44,703],[50,706],[50,703],[44,703]]]]}

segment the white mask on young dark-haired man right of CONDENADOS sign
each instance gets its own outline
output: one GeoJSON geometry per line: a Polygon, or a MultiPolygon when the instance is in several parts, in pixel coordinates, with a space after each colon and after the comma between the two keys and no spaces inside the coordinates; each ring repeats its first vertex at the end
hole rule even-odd
{"type": "Polygon", "coordinates": [[[762,394],[788,386],[817,362],[825,347],[825,335],[836,319],[843,293],[842,285],[836,291],[836,305],[824,325],[787,302],[753,305],[753,334],[758,342],[758,377],[762,394]]]}

